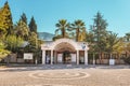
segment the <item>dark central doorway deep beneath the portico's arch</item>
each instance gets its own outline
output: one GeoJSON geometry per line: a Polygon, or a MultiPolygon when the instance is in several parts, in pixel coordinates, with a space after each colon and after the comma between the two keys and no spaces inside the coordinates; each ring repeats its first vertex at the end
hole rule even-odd
{"type": "Polygon", "coordinates": [[[70,63],[72,62],[72,56],[69,51],[63,52],[63,63],[70,63]]]}

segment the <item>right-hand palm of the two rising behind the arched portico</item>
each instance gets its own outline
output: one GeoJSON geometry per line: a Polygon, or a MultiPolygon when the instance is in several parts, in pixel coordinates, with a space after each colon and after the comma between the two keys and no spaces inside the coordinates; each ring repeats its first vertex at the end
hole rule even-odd
{"type": "Polygon", "coordinates": [[[75,20],[70,26],[70,30],[76,30],[76,41],[79,41],[80,32],[86,30],[86,25],[81,19],[75,20]]]}

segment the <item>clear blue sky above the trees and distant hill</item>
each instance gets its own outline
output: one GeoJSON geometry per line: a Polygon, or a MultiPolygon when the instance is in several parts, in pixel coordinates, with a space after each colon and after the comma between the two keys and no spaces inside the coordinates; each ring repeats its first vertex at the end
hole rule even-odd
{"type": "MultiPolygon", "coordinates": [[[[6,0],[0,0],[0,8],[6,0]]],[[[65,18],[69,23],[82,19],[87,30],[93,24],[93,17],[100,11],[108,23],[108,30],[119,37],[130,32],[130,0],[8,0],[13,23],[22,13],[26,13],[28,23],[34,16],[38,31],[54,33],[55,24],[65,18]]]]}

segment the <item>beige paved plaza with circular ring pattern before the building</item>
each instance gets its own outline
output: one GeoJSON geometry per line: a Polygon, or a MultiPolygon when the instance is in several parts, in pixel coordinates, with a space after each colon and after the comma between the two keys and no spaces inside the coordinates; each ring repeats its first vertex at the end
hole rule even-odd
{"type": "Polygon", "coordinates": [[[0,86],[130,86],[130,69],[70,64],[2,68],[0,86]]]}

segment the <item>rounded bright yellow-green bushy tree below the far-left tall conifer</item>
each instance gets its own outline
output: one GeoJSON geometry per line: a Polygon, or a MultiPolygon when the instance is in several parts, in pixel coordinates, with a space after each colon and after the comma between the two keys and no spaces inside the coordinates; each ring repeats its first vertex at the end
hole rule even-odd
{"type": "Polygon", "coordinates": [[[5,38],[5,44],[6,44],[6,49],[16,53],[17,49],[22,46],[23,44],[23,39],[21,37],[16,37],[16,35],[8,35],[5,38]]]}

